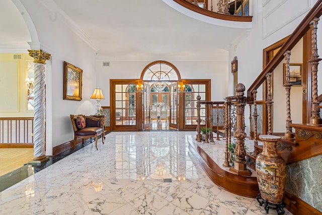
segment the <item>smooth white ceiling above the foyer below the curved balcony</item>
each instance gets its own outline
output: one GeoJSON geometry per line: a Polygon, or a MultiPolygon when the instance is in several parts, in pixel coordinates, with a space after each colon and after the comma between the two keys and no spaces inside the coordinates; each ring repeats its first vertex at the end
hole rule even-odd
{"type": "MultiPolygon", "coordinates": [[[[47,5],[72,28],[82,32],[98,59],[227,60],[223,59],[227,56],[223,54],[227,53],[225,49],[238,35],[246,32],[246,29],[222,27],[191,18],[162,0],[33,1],[47,5]]],[[[26,25],[21,22],[21,15],[11,0],[2,0],[1,6],[0,14],[13,17],[14,26],[0,23],[5,29],[0,36],[0,45],[30,41],[26,25]],[[14,29],[20,27],[23,33],[18,35],[14,29]]]]}

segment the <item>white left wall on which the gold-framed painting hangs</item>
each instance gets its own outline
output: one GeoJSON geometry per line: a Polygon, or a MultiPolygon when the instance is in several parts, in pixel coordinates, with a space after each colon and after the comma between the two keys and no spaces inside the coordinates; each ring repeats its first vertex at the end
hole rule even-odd
{"type": "MultiPolygon", "coordinates": [[[[52,147],[73,139],[69,114],[94,112],[90,96],[96,88],[95,51],[67,26],[59,15],[38,1],[21,1],[38,33],[40,48],[51,54],[46,62],[47,155],[52,147]],[[83,69],[83,100],[63,100],[63,61],[83,69]]],[[[32,41],[37,42],[37,41],[32,41]]]]}

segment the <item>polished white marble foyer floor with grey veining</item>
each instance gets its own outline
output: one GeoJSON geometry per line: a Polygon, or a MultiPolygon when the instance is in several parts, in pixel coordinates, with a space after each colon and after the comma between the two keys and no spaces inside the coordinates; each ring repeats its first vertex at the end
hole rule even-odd
{"type": "Polygon", "coordinates": [[[108,133],[98,151],[91,143],[0,192],[0,214],[266,214],[208,178],[188,149],[195,135],[108,133]]]}

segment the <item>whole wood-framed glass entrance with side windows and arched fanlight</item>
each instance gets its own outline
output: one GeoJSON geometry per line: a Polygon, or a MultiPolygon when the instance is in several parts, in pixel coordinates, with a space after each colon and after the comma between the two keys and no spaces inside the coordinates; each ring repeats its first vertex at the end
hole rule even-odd
{"type": "MultiPolygon", "coordinates": [[[[112,130],[195,130],[197,96],[210,101],[210,79],[181,79],[167,61],[153,61],[140,79],[110,80],[112,130]]],[[[205,118],[205,106],[200,117],[205,118]]]]}

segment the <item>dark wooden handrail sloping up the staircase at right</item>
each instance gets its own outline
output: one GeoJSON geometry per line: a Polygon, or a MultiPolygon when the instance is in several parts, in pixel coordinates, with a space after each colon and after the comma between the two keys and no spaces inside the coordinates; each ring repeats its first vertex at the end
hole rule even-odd
{"type": "Polygon", "coordinates": [[[280,50],[273,56],[272,60],[267,63],[262,73],[257,77],[253,84],[247,90],[248,101],[253,101],[252,91],[257,90],[265,81],[266,75],[272,73],[274,68],[284,59],[284,53],[287,50],[291,50],[298,41],[309,30],[309,23],[315,18],[322,15],[322,0],[318,0],[308,14],[304,17],[302,22],[297,26],[293,33],[288,37],[280,50]]]}

